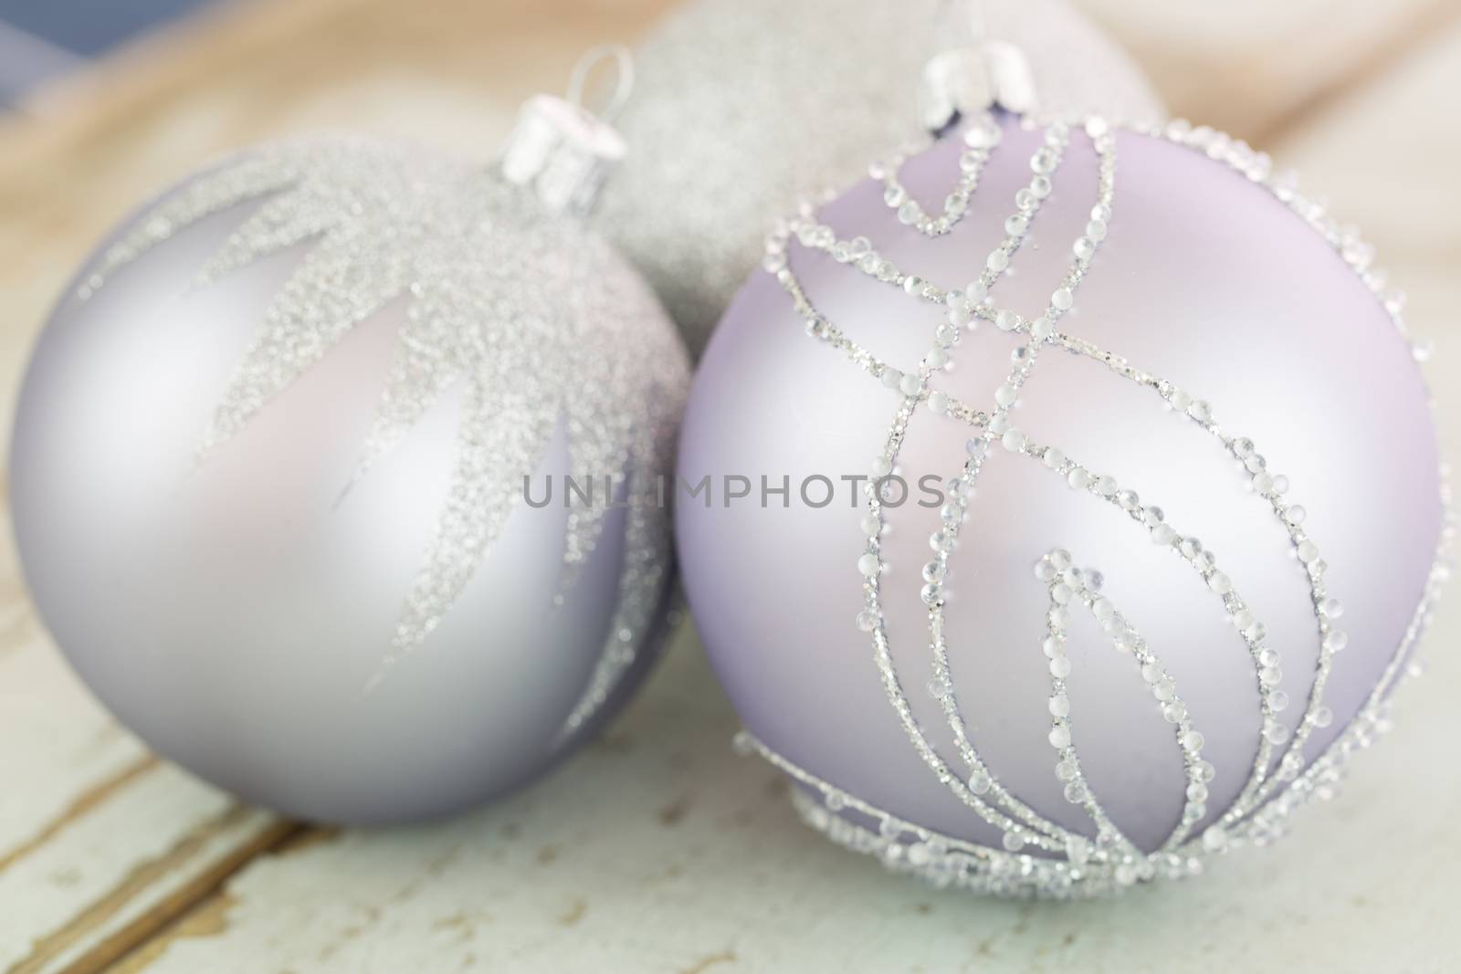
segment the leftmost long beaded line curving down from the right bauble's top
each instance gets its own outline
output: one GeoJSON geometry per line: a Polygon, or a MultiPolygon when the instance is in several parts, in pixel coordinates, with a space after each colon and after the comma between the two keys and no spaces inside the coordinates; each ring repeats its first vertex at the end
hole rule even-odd
{"type": "MultiPolygon", "coordinates": [[[[1045,139],[1046,145],[1042,149],[1036,150],[1034,156],[1031,156],[1030,165],[1031,169],[1036,171],[1036,175],[1031,178],[1031,185],[1036,181],[1043,181],[1045,185],[1049,185],[1049,177],[1046,174],[1053,166],[1059,165],[1061,158],[1064,156],[1064,149],[1068,145],[1068,137],[1069,133],[1067,127],[1064,126],[1050,127],[1050,130],[1046,133],[1045,139]]],[[[1026,191],[1027,190],[1021,190],[1021,193],[1026,191]]],[[[1043,196],[1048,196],[1048,193],[1043,196]]],[[[1039,196],[1034,200],[1036,209],[1039,207],[1039,199],[1043,199],[1043,196],[1039,196]]],[[[1023,197],[1017,200],[1017,206],[1020,206],[1023,202],[1024,202],[1023,197]]],[[[985,261],[985,270],[977,282],[977,285],[983,289],[983,292],[988,292],[988,289],[1008,269],[1010,258],[1020,248],[1020,244],[1024,238],[1024,232],[1027,229],[1029,229],[1029,222],[1026,221],[1026,223],[1018,228],[1020,231],[1018,234],[1011,232],[1001,242],[999,247],[991,251],[989,258],[985,261]]],[[[973,320],[973,304],[970,301],[955,299],[951,301],[950,304],[951,304],[950,321],[945,326],[939,326],[935,334],[935,346],[931,355],[955,343],[958,340],[958,330],[973,320]]],[[[901,447],[903,435],[907,428],[907,421],[912,418],[916,404],[922,400],[931,374],[935,371],[935,368],[942,368],[945,364],[947,364],[947,356],[941,359],[935,358],[934,362],[925,359],[923,365],[920,365],[919,372],[916,375],[910,372],[900,380],[899,388],[900,391],[904,393],[904,400],[899,409],[897,416],[894,418],[893,428],[888,434],[888,440],[884,447],[884,453],[874,460],[872,466],[874,478],[885,478],[888,473],[893,472],[894,464],[897,463],[899,448],[901,447]]],[[[869,510],[866,517],[863,518],[862,527],[868,534],[868,551],[866,553],[862,555],[862,558],[859,558],[858,570],[866,578],[863,584],[866,596],[866,609],[862,613],[859,613],[858,624],[859,628],[865,628],[868,624],[871,624],[872,626],[871,634],[875,647],[874,660],[878,664],[880,673],[882,676],[882,685],[888,695],[888,701],[891,702],[894,711],[899,714],[899,718],[903,723],[904,733],[907,735],[909,740],[913,743],[919,755],[923,758],[925,764],[928,764],[929,768],[939,778],[939,781],[947,784],[950,790],[961,802],[964,802],[964,805],[972,808],[980,818],[1001,828],[1001,831],[1005,832],[1005,835],[1008,837],[1005,840],[1007,848],[1014,848],[1015,847],[1014,841],[1018,840],[1018,845],[1024,845],[1026,841],[1033,841],[1036,845],[1040,845],[1042,848],[1048,848],[1050,851],[1059,851],[1061,848],[1064,848],[1065,829],[1062,829],[1055,822],[1049,822],[1048,819],[1036,813],[1034,809],[1026,806],[1023,802],[1008,794],[1001,786],[998,786],[998,783],[993,781],[993,775],[988,774],[988,771],[979,762],[977,755],[974,755],[974,764],[972,765],[970,783],[966,784],[963,780],[960,780],[958,775],[955,775],[948,768],[948,765],[942,761],[942,758],[938,756],[932,745],[929,745],[928,739],[923,736],[923,732],[918,726],[918,721],[913,718],[912,707],[907,701],[906,694],[903,692],[901,683],[897,678],[897,672],[893,666],[893,657],[888,650],[887,632],[882,625],[882,612],[880,605],[881,593],[878,588],[878,575],[884,568],[881,559],[881,545],[878,542],[878,537],[881,536],[884,529],[882,505],[880,502],[877,491],[872,488],[871,483],[868,485],[865,492],[868,496],[869,510]],[[986,781],[988,787],[985,787],[986,781]],[[993,797],[999,800],[1007,809],[1010,809],[1010,813],[1007,815],[998,810],[996,808],[989,806],[980,797],[982,791],[992,791],[993,797]],[[1020,828],[1020,825],[1014,819],[1024,822],[1024,825],[1029,829],[1033,829],[1033,834],[1027,832],[1026,828],[1020,828]]],[[[972,753],[972,749],[969,751],[969,753],[972,753]]]]}

